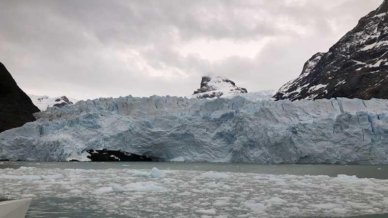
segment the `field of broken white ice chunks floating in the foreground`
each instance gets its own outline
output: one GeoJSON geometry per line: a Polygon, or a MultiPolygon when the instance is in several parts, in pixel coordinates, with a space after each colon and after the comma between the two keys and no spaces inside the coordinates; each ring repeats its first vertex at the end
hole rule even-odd
{"type": "Polygon", "coordinates": [[[59,198],[63,199],[55,205],[59,210],[89,208],[97,217],[280,218],[388,213],[388,180],[348,175],[20,167],[0,169],[0,184],[3,198],[59,198]]]}

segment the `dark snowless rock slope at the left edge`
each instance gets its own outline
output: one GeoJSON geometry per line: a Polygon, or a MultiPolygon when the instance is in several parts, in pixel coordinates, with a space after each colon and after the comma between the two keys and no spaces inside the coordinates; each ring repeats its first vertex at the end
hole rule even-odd
{"type": "Polygon", "coordinates": [[[0,63],[0,132],[35,121],[32,113],[39,111],[0,63]]]}

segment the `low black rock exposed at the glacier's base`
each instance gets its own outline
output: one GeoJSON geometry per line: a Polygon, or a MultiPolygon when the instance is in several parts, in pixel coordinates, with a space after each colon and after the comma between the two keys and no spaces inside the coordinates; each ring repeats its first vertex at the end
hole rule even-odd
{"type": "Polygon", "coordinates": [[[152,161],[147,156],[140,156],[123,151],[111,151],[107,149],[102,150],[88,150],[87,156],[92,161],[152,161]]]}

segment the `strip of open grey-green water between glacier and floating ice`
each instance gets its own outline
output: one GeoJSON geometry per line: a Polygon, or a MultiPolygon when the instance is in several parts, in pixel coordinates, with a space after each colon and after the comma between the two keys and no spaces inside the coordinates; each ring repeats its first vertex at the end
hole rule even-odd
{"type": "MultiPolygon", "coordinates": [[[[1,162],[1,161],[0,161],[1,162]]],[[[261,174],[294,175],[356,175],[358,178],[388,179],[388,165],[323,165],[323,164],[251,164],[251,163],[184,163],[184,162],[24,162],[3,161],[0,169],[21,166],[42,169],[136,169],[149,170],[193,170],[246,172],[261,174]]]]}

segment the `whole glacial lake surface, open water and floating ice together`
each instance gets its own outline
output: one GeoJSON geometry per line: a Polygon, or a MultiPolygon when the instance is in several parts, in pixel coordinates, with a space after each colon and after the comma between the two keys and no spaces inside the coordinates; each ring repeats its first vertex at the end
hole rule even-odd
{"type": "Polygon", "coordinates": [[[27,218],[384,218],[388,166],[0,161],[0,199],[29,197],[27,218]]]}

